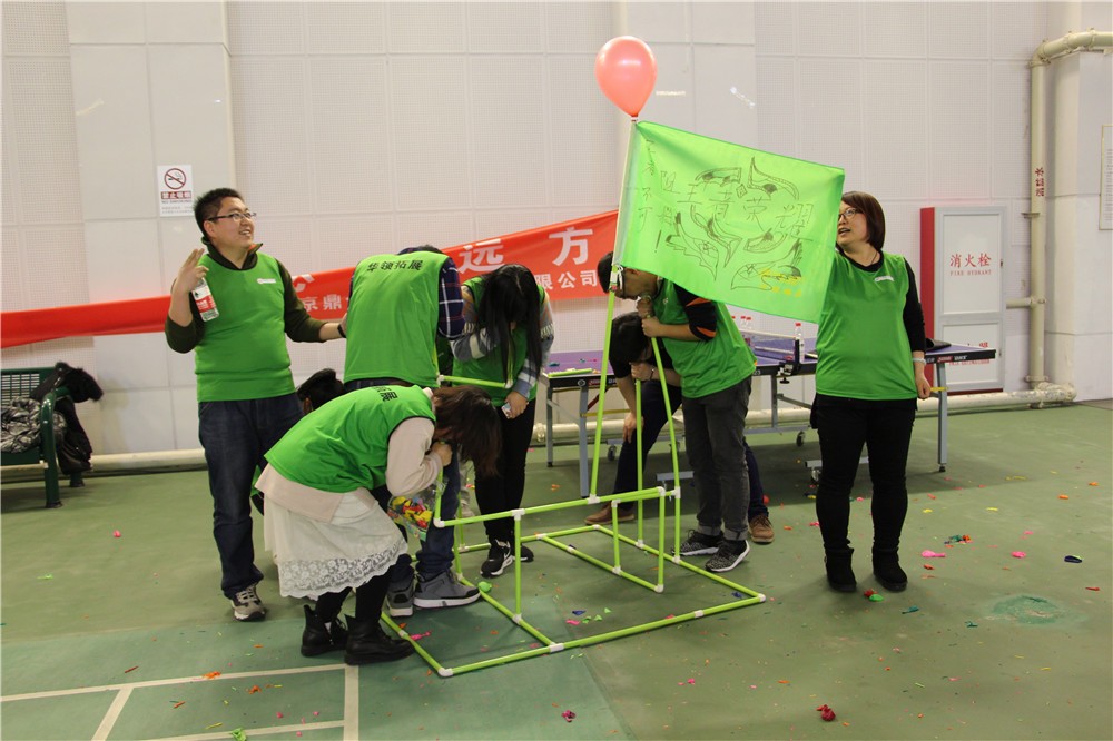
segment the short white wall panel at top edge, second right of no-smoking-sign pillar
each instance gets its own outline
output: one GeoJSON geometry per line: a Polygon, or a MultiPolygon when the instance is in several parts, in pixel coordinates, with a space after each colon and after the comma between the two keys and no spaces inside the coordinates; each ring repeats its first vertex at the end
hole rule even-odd
{"type": "Polygon", "coordinates": [[[311,55],[383,53],[386,32],[386,3],[305,4],[305,43],[311,55]]]}

